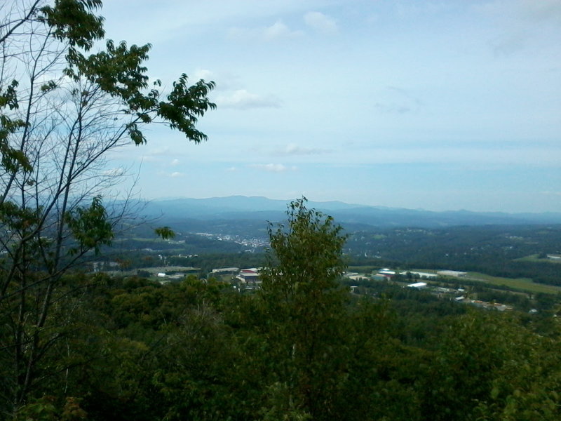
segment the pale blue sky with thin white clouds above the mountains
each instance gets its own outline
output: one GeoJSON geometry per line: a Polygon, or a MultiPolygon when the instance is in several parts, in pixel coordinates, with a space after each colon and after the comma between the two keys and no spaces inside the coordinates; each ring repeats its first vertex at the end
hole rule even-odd
{"type": "Polygon", "coordinates": [[[151,78],[215,81],[200,145],[110,156],[145,199],[561,212],[561,0],[104,0],[151,78]],[[136,177],[137,175],[137,177],[136,177]]]}

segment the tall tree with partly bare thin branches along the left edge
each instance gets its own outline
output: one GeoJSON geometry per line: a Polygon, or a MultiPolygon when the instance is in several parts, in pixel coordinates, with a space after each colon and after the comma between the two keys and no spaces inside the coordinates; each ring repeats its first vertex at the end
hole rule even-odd
{"type": "MultiPolygon", "coordinates": [[[[0,410],[27,401],[41,360],[62,333],[49,323],[60,279],[111,244],[122,212],[102,193],[114,182],[107,152],[142,145],[143,127],[165,123],[195,143],[198,117],[215,107],[213,82],[168,95],[149,86],[149,44],[104,38],[101,0],[13,0],[0,4],[0,410]]],[[[168,231],[164,231],[168,235],[168,231]]]]}

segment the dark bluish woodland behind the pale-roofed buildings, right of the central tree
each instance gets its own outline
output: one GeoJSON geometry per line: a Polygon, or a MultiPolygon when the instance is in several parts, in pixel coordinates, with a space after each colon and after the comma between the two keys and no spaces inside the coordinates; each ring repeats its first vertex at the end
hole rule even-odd
{"type": "MultiPolygon", "coordinates": [[[[561,285],[560,266],[548,253],[561,252],[559,225],[486,225],[442,229],[398,228],[354,232],[348,252],[399,262],[404,267],[448,268],[561,285]],[[541,259],[524,260],[534,255],[541,259]]],[[[369,259],[361,259],[367,262],[369,259]]]]}

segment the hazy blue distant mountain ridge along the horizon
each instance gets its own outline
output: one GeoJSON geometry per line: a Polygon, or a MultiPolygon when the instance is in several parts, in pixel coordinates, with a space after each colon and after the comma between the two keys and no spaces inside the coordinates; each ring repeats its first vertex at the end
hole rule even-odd
{"type": "MultiPolygon", "coordinates": [[[[288,201],[262,196],[227,196],[208,199],[154,200],[144,204],[142,214],[161,217],[162,222],[178,220],[285,220],[288,201]]],[[[535,225],[561,224],[561,213],[501,213],[469,210],[431,211],[422,209],[364,206],[342,201],[309,201],[342,225],[372,227],[451,227],[454,225],[535,225]]]]}

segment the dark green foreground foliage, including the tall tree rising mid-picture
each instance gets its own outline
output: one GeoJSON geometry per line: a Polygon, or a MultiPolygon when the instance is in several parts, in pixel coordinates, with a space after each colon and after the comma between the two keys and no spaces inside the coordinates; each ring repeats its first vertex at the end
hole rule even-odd
{"type": "Polygon", "coordinates": [[[270,227],[258,293],[195,276],[164,286],[67,277],[53,313],[69,321],[64,340],[16,418],[560,418],[552,313],[468,309],[416,291],[358,297],[338,281],[341,229],[304,201],[288,213],[270,227]]]}

